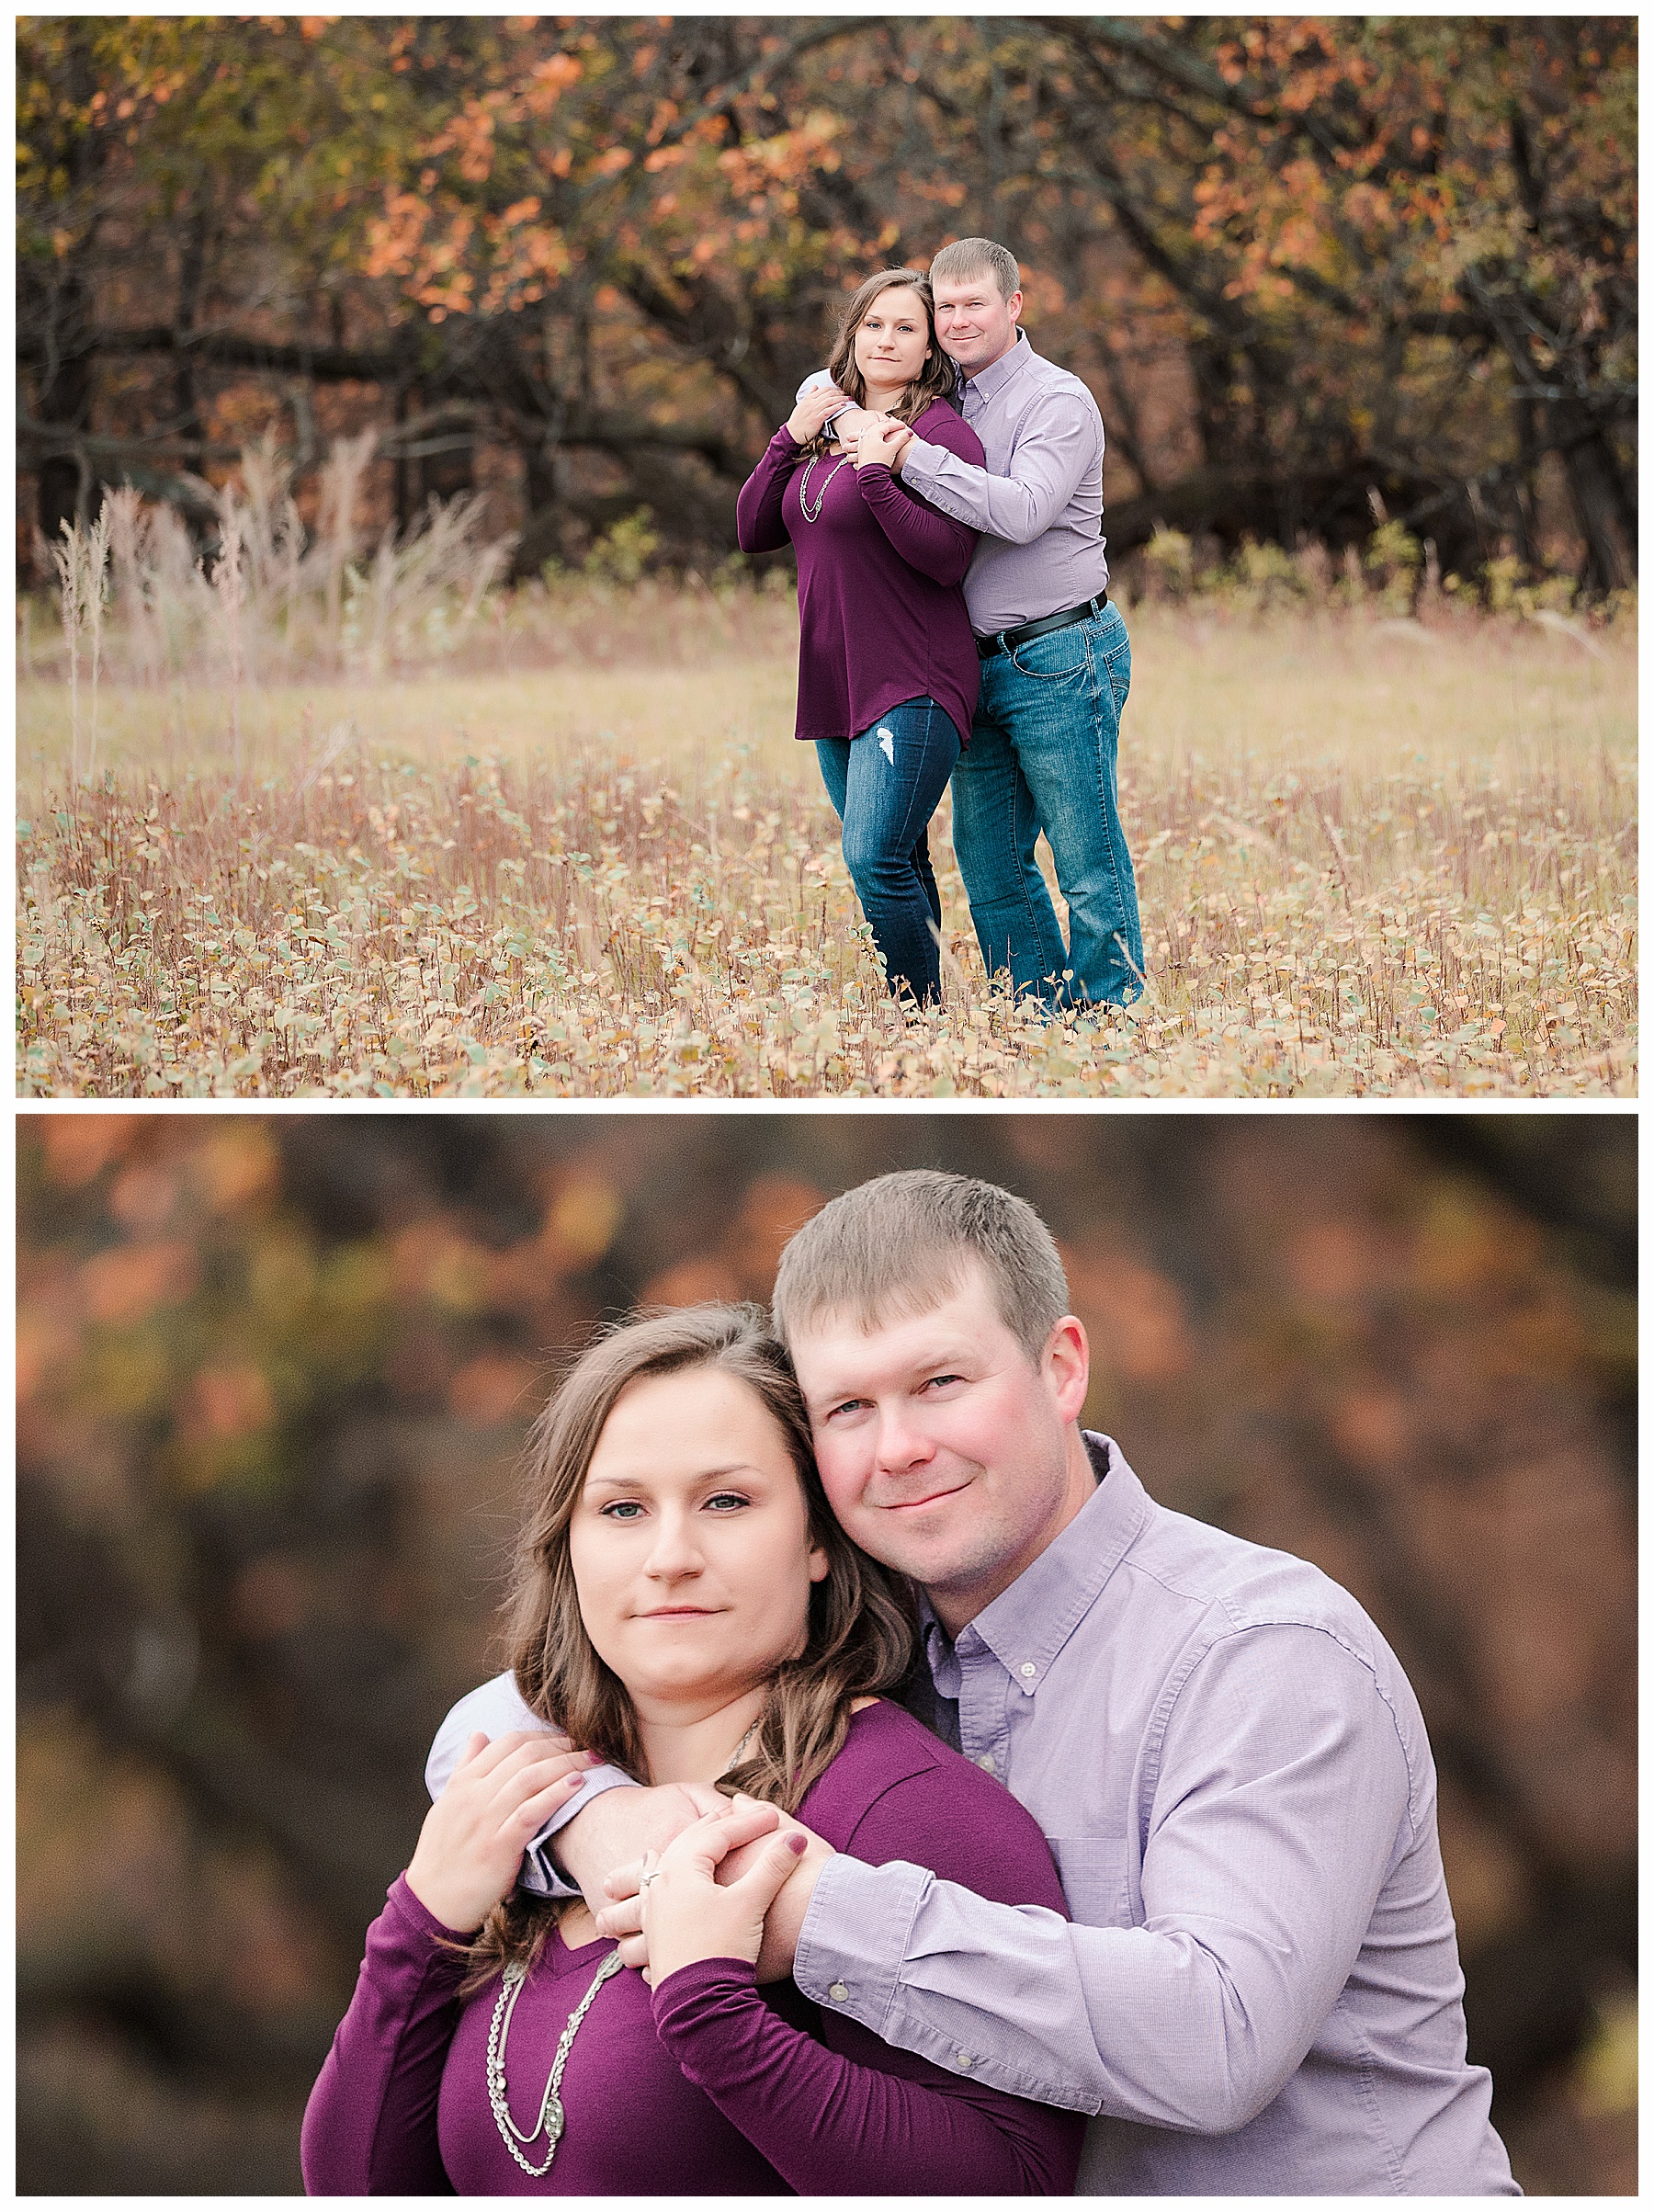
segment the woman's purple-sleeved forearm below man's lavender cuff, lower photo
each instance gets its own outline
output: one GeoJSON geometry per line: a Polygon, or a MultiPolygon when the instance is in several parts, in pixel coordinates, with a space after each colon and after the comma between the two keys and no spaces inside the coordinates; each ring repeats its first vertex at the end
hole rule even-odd
{"type": "Polygon", "coordinates": [[[884,2073],[827,2051],[770,2011],[743,1960],[668,1975],[655,2026],[685,2077],[803,2197],[1072,2190],[1072,2115],[949,2081],[907,2053],[889,2053],[896,2070],[884,2073]]]}

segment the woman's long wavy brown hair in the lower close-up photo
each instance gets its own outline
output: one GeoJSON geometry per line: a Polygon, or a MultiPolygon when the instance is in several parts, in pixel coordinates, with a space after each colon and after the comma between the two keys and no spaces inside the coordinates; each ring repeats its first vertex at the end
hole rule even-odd
{"type": "MultiPolygon", "coordinates": [[[[809,1544],[827,1553],[827,1575],[809,1590],[805,1648],[774,1670],[752,1750],[719,1776],[725,1792],[747,1790],[796,1812],[842,1750],[851,1701],[891,1690],[907,1672],[915,1624],[907,1586],[860,1553],[834,1520],[798,1383],[758,1307],[648,1312],[606,1329],[568,1369],[528,1431],[528,1498],[504,1604],[509,1663],[524,1701],[544,1721],[648,1781],[632,1701],[597,1657],[579,1615],[568,1522],[597,1438],[628,1383],[699,1367],[745,1383],[772,1416],[798,1469],[809,1544]]],[[[555,1907],[513,1891],[471,1944],[467,1991],[511,1960],[533,1962],[553,1918],[555,1907]]]]}

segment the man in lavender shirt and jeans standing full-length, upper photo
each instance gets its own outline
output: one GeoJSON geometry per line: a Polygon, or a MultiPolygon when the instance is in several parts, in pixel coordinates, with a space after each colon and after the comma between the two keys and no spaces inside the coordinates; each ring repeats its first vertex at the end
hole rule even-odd
{"type": "MultiPolygon", "coordinates": [[[[1048,1004],[1143,989],[1137,880],[1119,818],[1119,719],[1132,681],[1108,599],[1103,418],[1086,385],[1017,327],[1022,272],[993,239],[931,261],[935,336],[960,369],[986,469],[882,418],[891,469],[980,531],[964,580],[982,690],[953,770],[953,852],[988,973],[1048,1004]],[[1035,863],[1044,830],[1068,945],[1035,863]]],[[[814,378],[812,378],[814,383],[814,378]]]]}

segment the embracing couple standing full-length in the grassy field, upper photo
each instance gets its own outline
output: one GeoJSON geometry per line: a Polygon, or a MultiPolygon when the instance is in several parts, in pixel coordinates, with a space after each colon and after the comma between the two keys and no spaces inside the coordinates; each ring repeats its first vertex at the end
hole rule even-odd
{"type": "Polygon", "coordinates": [[[993,239],[944,246],[929,276],[869,276],[736,507],[743,553],[798,553],[796,734],[816,743],[904,1004],[940,995],[929,821],[949,779],[988,975],[1079,1009],[1143,987],[1103,420],[1017,327],[1019,285],[993,239]],[[1041,830],[1068,945],[1035,863],[1041,830]]]}

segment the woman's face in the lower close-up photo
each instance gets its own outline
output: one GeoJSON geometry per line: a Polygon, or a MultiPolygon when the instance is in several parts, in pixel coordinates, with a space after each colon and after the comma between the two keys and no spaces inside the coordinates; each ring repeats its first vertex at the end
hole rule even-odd
{"type": "Polygon", "coordinates": [[[619,1394],[568,1559],[586,1635],[646,1721],[719,1712],[800,1652],[827,1573],[787,1438],[716,1367],[619,1394]]]}

